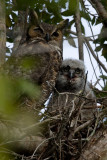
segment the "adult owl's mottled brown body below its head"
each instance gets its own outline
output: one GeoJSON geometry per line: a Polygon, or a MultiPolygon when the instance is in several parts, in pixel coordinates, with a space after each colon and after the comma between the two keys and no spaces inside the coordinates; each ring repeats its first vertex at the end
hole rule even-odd
{"type": "Polygon", "coordinates": [[[44,104],[55,85],[61,55],[59,47],[34,40],[21,44],[7,62],[11,76],[24,78],[40,86],[41,98],[36,102],[36,106],[44,104]]]}

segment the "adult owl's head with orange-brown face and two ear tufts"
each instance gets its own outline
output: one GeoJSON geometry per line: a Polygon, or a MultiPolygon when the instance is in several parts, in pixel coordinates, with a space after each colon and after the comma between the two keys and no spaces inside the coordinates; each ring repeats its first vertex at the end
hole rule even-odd
{"type": "Polygon", "coordinates": [[[68,24],[68,19],[61,21],[58,25],[40,22],[35,11],[31,11],[33,17],[32,25],[28,30],[29,38],[41,38],[44,42],[62,48],[62,30],[68,24]]]}

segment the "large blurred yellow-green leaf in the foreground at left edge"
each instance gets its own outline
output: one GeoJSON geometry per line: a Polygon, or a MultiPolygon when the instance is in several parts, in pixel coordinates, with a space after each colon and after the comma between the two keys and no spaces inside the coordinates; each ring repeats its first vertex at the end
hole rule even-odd
{"type": "Polygon", "coordinates": [[[12,78],[10,76],[0,76],[0,112],[11,115],[16,111],[16,105],[23,96],[31,99],[38,99],[40,88],[22,78],[12,78]]]}

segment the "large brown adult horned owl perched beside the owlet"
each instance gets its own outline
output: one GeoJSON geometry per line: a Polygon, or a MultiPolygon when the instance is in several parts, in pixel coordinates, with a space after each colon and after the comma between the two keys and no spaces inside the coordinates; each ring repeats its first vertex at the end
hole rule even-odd
{"type": "Polygon", "coordinates": [[[40,22],[33,12],[33,24],[29,27],[26,41],[20,43],[8,60],[9,74],[21,77],[41,88],[41,96],[35,106],[47,100],[62,61],[63,29],[68,20],[58,25],[40,22]],[[12,65],[11,65],[12,61],[12,65]]]}

